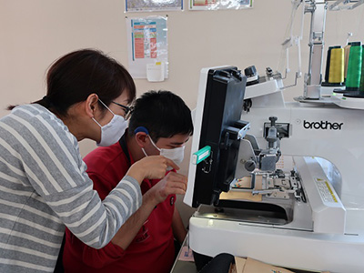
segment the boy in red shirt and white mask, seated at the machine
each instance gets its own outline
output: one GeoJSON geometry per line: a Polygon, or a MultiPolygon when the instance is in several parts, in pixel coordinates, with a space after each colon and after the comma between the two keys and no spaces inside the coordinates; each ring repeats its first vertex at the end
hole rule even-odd
{"type": "MultiPolygon", "coordinates": [[[[168,91],[150,91],[136,100],[127,133],[111,147],[99,147],[85,157],[87,173],[101,198],[143,157],[162,155],[178,165],[193,133],[191,112],[168,91]]],[[[141,184],[143,204],[101,249],[89,248],[66,231],[66,272],[169,272],[175,259],[174,238],[182,243],[187,231],[177,208],[180,184],[187,177],[176,172],[141,184]],[[177,185],[179,185],[177,187],[177,185]]],[[[185,188],[186,189],[186,188],[185,188]]]]}

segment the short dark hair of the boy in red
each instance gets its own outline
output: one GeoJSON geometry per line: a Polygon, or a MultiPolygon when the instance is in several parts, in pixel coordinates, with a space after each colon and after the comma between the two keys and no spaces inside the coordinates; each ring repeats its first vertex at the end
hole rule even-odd
{"type": "Polygon", "coordinates": [[[170,91],[148,91],[136,99],[129,121],[129,136],[138,126],[144,126],[153,141],[160,137],[193,134],[191,110],[179,96],[170,91]]]}

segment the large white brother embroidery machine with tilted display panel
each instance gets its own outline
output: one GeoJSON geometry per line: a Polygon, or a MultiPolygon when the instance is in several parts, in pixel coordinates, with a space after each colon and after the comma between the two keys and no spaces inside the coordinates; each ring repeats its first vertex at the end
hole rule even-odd
{"type": "Polygon", "coordinates": [[[190,248],[364,272],[364,99],[317,96],[306,76],[304,96],[288,103],[278,73],[258,79],[252,68],[246,88],[237,67],[201,71],[184,199],[198,207],[190,248]]]}

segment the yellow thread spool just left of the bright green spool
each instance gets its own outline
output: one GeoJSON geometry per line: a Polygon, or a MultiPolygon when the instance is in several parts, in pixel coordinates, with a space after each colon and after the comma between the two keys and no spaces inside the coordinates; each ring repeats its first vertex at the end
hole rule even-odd
{"type": "Polygon", "coordinates": [[[332,48],[329,63],[329,83],[344,82],[344,48],[332,48]]]}

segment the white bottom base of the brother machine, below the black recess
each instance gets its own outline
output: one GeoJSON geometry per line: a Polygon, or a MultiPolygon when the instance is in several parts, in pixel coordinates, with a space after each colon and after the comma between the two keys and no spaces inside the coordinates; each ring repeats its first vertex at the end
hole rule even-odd
{"type": "Polygon", "coordinates": [[[207,217],[191,217],[189,245],[215,257],[222,252],[279,267],[364,272],[364,237],[322,234],[207,217]]]}

